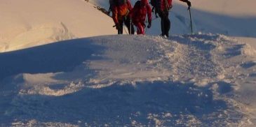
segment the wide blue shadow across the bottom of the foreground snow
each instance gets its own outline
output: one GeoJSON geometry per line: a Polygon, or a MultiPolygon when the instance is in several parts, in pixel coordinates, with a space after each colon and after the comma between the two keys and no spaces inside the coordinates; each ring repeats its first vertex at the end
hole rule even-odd
{"type": "MultiPolygon", "coordinates": [[[[224,87],[222,93],[230,90],[227,83],[220,84],[224,87]]],[[[131,126],[132,121],[156,126],[154,119],[149,119],[150,114],[165,121],[162,126],[186,126],[191,116],[201,121],[191,126],[227,126],[226,121],[236,123],[243,118],[223,100],[214,99],[209,87],[180,82],[141,82],[135,86],[116,83],[65,96],[24,95],[12,106],[17,107],[12,114],[15,119],[79,126],[131,126]],[[165,113],[171,116],[165,117],[165,113]],[[181,123],[177,124],[179,120],[181,123]]]]}

